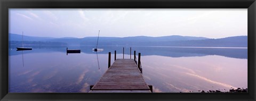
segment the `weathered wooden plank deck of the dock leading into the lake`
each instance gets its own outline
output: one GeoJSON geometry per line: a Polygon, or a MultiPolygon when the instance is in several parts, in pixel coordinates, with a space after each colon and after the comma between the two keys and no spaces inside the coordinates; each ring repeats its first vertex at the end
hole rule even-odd
{"type": "Polygon", "coordinates": [[[89,92],[151,92],[132,59],[117,59],[89,92]]]}

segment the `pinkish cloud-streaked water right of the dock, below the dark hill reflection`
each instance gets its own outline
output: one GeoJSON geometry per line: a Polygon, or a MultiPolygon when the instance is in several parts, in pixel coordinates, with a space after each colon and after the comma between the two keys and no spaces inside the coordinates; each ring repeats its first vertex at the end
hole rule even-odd
{"type": "Polygon", "coordinates": [[[143,77],[154,92],[225,91],[247,87],[247,60],[217,55],[143,56],[143,77]],[[154,58],[154,59],[153,59],[154,58]],[[157,80],[157,82],[156,82],[157,80]],[[161,85],[161,86],[158,86],[161,85]]]}

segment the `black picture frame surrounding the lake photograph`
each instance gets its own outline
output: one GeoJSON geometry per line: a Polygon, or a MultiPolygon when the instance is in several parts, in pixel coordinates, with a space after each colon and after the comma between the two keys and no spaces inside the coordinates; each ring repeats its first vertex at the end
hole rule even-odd
{"type": "Polygon", "coordinates": [[[255,0],[0,0],[1,100],[255,100],[255,0]],[[248,93],[9,93],[8,27],[11,8],[219,8],[248,10],[248,93]]]}

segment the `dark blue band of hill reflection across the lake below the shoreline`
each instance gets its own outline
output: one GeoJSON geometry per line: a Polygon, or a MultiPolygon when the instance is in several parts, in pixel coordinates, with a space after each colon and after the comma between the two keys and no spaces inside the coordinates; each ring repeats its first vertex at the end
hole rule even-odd
{"type": "MultiPolygon", "coordinates": [[[[16,46],[11,46],[16,47],[16,46]]],[[[39,53],[39,52],[63,52],[66,53],[67,46],[30,46],[34,51],[24,52],[26,53],[39,53]]],[[[73,48],[81,49],[82,53],[95,54],[92,48],[95,46],[68,46],[73,48]]],[[[101,46],[104,51],[97,52],[97,54],[108,54],[108,52],[117,54],[123,54],[123,47],[125,48],[124,54],[130,55],[130,46],[101,46]]],[[[21,53],[12,52],[9,48],[9,55],[19,55],[21,53]]],[[[184,48],[184,47],[139,47],[132,46],[133,51],[136,53],[141,53],[141,56],[147,55],[159,55],[159,56],[169,56],[169,57],[193,57],[193,56],[206,56],[206,55],[219,55],[232,58],[242,58],[247,59],[247,48],[184,48]]]]}

